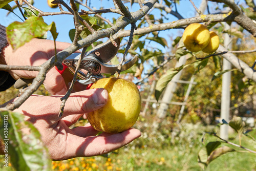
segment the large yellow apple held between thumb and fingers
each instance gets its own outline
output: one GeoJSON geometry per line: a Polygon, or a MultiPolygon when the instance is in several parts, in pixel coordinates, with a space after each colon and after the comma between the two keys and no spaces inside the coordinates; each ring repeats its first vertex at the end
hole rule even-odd
{"type": "Polygon", "coordinates": [[[103,108],[87,114],[93,128],[105,133],[120,133],[130,129],[137,121],[140,108],[140,92],[135,83],[121,78],[102,78],[90,89],[104,88],[109,99],[103,108]]]}

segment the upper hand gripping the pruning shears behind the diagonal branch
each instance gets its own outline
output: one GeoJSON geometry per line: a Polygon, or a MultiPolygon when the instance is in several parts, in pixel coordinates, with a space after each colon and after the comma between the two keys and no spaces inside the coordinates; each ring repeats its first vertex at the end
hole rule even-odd
{"type": "MultiPolygon", "coordinates": [[[[56,42],[57,52],[66,49],[70,44],[66,42],[56,42]]],[[[46,62],[52,56],[55,55],[54,52],[54,41],[45,40],[45,39],[32,39],[24,46],[18,48],[16,51],[13,51],[11,46],[8,46],[4,50],[4,58],[7,65],[12,66],[39,66],[42,63],[46,62]]],[[[14,79],[18,78],[34,78],[37,76],[37,71],[21,71],[21,70],[12,70],[9,71],[14,79]]],[[[45,88],[52,95],[64,95],[67,92],[67,86],[73,79],[73,75],[65,70],[63,74],[52,68],[47,74],[44,81],[45,88]],[[62,77],[65,76],[64,78],[62,77]]],[[[85,90],[86,86],[75,84],[75,91],[85,90]]]]}

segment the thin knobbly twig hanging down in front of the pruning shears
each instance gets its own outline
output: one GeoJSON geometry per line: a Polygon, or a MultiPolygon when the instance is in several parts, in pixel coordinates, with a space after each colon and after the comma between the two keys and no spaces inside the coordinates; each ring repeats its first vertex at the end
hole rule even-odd
{"type": "Polygon", "coordinates": [[[81,53],[81,56],[79,57],[78,61],[77,61],[77,64],[76,64],[76,70],[75,70],[75,73],[74,73],[74,77],[73,77],[73,80],[71,82],[71,85],[69,87],[69,90],[68,92],[65,94],[65,96],[61,97],[60,100],[61,100],[61,104],[60,104],[60,110],[59,110],[59,117],[61,117],[63,115],[63,111],[64,111],[64,107],[65,107],[65,104],[66,104],[66,101],[68,100],[70,94],[71,94],[71,91],[73,90],[73,87],[74,87],[74,84],[76,82],[76,77],[77,77],[77,72],[79,71],[79,67],[80,67],[80,64],[81,64],[81,61],[82,61],[82,58],[84,56],[84,53],[86,53],[86,50],[87,50],[87,47],[84,47],[82,49],[82,53],[81,53]]]}

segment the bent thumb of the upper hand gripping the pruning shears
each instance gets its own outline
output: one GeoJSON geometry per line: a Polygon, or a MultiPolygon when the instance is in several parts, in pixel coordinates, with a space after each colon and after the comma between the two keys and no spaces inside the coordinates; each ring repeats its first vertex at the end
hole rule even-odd
{"type": "Polygon", "coordinates": [[[68,91],[65,80],[55,68],[52,68],[46,74],[44,85],[46,90],[52,95],[65,95],[68,91]]]}

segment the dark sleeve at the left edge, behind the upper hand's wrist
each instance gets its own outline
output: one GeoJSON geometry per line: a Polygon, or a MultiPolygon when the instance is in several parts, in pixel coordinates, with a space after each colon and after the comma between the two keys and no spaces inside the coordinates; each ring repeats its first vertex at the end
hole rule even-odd
{"type": "MultiPolygon", "coordinates": [[[[2,52],[2,49],[7,45],[6,28],[0,25],[0,53],[2,52]]],[[[14,84],[14,82],[15,79],[13,79],[8,72],[0,71],[0,92],[9,89],[14,84]]]]}

